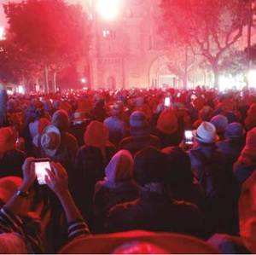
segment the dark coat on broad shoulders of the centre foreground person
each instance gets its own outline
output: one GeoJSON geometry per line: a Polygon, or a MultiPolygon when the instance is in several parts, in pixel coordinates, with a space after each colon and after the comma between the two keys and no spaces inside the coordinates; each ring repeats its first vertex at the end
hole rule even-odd
{"type": "Polygon", "coordinates": [[[193,204],[177,202],[165,194],[142,192],[138,200],[110,210],[106,230],[144,229],[203,236],[206,228],[203,222],[200,210],[193,204]]]}

